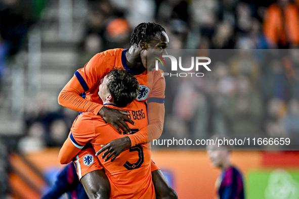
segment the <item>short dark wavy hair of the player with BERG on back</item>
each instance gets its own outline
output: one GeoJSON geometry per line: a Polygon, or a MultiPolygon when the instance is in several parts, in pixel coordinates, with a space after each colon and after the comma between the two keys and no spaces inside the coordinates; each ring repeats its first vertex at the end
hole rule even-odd
{"type": "Polygon", "coordinates": [[[107,79],[107,89],[113,97],[114,104],[118,107],[129,105],[140,92],[136,77],[123,69],[111,70],[107,74],[107,79]]]}

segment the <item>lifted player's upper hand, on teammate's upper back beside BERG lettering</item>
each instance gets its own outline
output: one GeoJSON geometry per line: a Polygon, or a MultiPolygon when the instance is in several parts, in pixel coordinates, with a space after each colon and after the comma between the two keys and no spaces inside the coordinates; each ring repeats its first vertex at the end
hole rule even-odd
{"type": "Polygon", "coordinates": [[[125,123],[125,121],[128,121],[131,124],[135,125],[135,123],[130,118],[126,117],[126,115],[130,115],[130,113],[127,113],[125,111],[121,111],[121,110],[118,110],[118,109],[111,109],[111,108],[108,108],[108,107],[103,107],[99,111],[99,115],[103,116],[103,119],[106,122],[108,122],[109,124],[111,124],[112,126],[114,126],[120,134],[122,133],[120,128],[126,134],[132,133],[129,125],[127,125],[127,123],[125,123]]]}

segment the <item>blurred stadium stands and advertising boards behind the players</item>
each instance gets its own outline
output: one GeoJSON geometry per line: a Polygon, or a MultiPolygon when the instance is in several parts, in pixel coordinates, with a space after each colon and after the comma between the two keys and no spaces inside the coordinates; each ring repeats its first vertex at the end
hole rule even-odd
{"type": "MultiPolygon", "coordinates": [[[[58,105],[58,93],[96,53],[129,47],[139,23],[161,24],[173,49],[290,49],[299,44],[298,6],[288,0],[0,0],[0,198],[39,198],[51,187],[62,168],[59,148],[77,115],[58,105]]],[[[220,64],[206,89],[187,90],[196,93],[191,114],[174,109],[186,93],[166,80],[162,137],[234,137],[246,133],[238,129],[248,122],[267,136],[297,137],[299,56],[290,55],[284,62],[244,61],[245,69],[239,60],[220,64]],[[224,93],[223,86],[231,89],[224,93]],[[220,96],[234,100],[232,106],[255,100],[223,112],[220,96]],[[227,120],[231,128],[215,125],[227,120]]],[[[159,148],[152,158],[179,198],[215,196],[220,171],[205,151],[159,148]]],[[[296,151],[235,151],[233,162],[244,173],[247,198],[299,198],[296,151]]]]}

